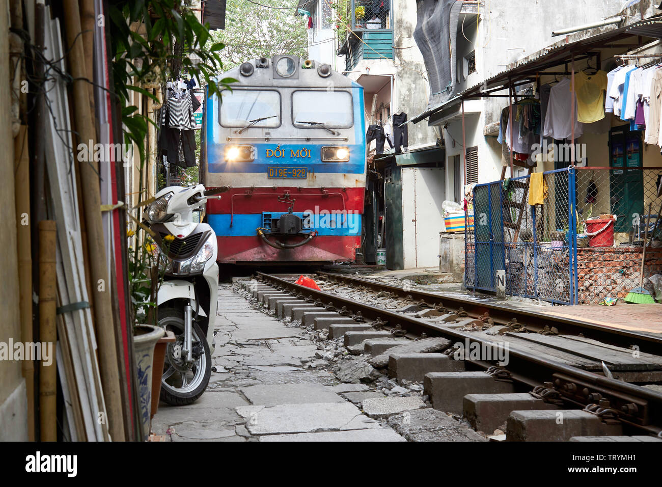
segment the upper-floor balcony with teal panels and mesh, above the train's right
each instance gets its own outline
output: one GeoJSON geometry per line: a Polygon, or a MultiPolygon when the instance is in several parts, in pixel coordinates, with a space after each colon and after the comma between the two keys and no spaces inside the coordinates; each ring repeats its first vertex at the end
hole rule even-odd
{"type": "Polygon", "coordinates": [[[392,0],[345,0],[339,9],[338,55],[345,56],[345,70],[362,59],[393,59],[392,0]]]}

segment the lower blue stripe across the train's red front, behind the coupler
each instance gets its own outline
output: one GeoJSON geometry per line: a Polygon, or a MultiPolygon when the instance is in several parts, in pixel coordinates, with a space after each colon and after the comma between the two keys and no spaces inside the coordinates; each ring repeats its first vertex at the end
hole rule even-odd
{"type": "MultiPolygon", "coordinates": [[[[272,218],[278,218],[283,213],[270,213],[272,218]]],[[[303,213],[295,213],[301,217],[303,213]]],[[[355,237],[361,235],[361,215],[314,215],[311,217],[310,229],[318,231],[320,237],[355,237]],[[335,222],[335,227],[332,223],[335,222]]],[[[248,237],[257,235],[256,230],[264,227],[264,216],[260,213],[252,215],[234,215],[230,227],[230,215],[207,215],[207,223],[211,225],[218,237],[248,237]]],[[[304,229],[304,232],[310,231],[304,229]]]]}

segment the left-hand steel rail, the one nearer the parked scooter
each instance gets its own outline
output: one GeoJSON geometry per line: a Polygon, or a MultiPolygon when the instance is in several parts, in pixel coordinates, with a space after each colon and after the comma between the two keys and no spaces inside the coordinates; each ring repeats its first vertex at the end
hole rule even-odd
{"type": "MultiPolygon", "coordinates": [[[[461,343],[469,344],[478,343],[479,346],[482,345],[483,347],[493,348],[498,346],[496,341],[477,337],[470,332],[463,332],[457,329],[436,325],[435,323],[431,323],[424,319],[415,318],[388,309],[382,309],[367,303],[354,301],[353,299],[342,298],[342,296],[314,290],[307,286],[300,286],[295,282],[279,278],[278,276],[265,274],[263,272],[257,272],[256,275],[258,276],[258,280],[267,282],[267,284],[270,283],[280,290],[289,290],[289,292],[295,294],[297,298],[307,299],[309,302],[320,302],[322,304],[326,302],[328,303],[327,305],[334,307],[336,310],[341,309],[342,307],[348,310],[354,309],[360,311],[361,317],[363,318],[373,320],[380,319],[381,321],[387,321],[390,326],[395,327],[400,325],[402,329],[410,333],[415,333],[416,335],[426,333],[428,337],[444,337],[451,341],[461,341],[461,343]]],[[[467,360],[467,362],[475,362],[479,364],[479,366],[483,366],[483,368],[485,366],[485,361],[481,363],[477,360],[467,360]]],[[[603,398],[609,400],[611,407],[618,412],[620,421],[633,425],[634,427],[645,429],[653,434],[662,431],[662,394],[659,392],[635,386],[628,382],[622,382],[620,380],[594,374],[593,372],[562,364],[554,360],[534,356],[529,352],[516,349],[516,346],[508,347],[508,370],[513,371],[512,378],[518,380],[518,382],[520,382],[518,376],[521,376],[522,378],[530,378],[532,375],[544,375],[544,379],[540,381],[541,384],[549,382],[557,382],[558,384],[559,376],[565,376],[571,378],[571,380],[577,380],[577,383],[581,386],[591,386],[594,387],[595,390],[588,390],[587,394],[585,394],[585,402],[582,403],[583,399],[578,397],[577,394],[570,394],[561,388],[558,392],[563,396],[564,400],[574,402],[575,404],[579,401],[580,404],[588,406],[589,404],[592,404],[590,400],[591,394],[599,392],[602,394],[603,398]],[[641,415],[637,415],[637,413],[628,414],[622,411],[623,407],[633,403],[645,406],[643,408],[644,410],[641,411],[641,415]]],[[[521,382],[527,385],[532,384],[532,382],[526,379],[521,380],[521,382]]],[[[562,383],[566,384],[567,381],[563,381],[562,383]]]]}

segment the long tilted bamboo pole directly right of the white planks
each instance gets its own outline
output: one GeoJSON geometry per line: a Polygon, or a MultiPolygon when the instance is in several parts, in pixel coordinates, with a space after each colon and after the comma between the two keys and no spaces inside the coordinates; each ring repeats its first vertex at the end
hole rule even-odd
{"type": "MultiPolygon", "coordinates": [[[[87,143],[95,139],[94,126],[89,109],[85,72],[85,55],[81,32],[80,12],[77,0],[64,1],[68,61],[73,77],[75,127],[79,142],[87,143]]],[[[99,191],[99,164],[93,160],[79,164],[81,175],[81,196],[83,199],[87,244],[90,254],[89,264],[92,284],[91,298],[94,303],[95,329],[99,343],[99,368],[103,396],[108,413],[108,426],[114,441],[124,441],[124,419],[122,417],[119,367],[117,359],[117,338],[113,323],[111,286],[108,282],[103,228],[101,227],[101,195],[99,191]]]]}

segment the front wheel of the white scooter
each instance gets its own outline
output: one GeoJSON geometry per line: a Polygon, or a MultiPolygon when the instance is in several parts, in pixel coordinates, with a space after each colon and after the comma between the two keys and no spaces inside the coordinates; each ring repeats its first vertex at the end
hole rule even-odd
{"type": "Polygon", "coordinates": [[[160,308],[159,326],[175,334],[175,343],[169,343],[161,380],[161,399],[173,406],[193,404],[202,396],[211,376],[211,353],[205,333],[193,323],[193,363],[187,364],[183,356],[184,313],[181,309],[160,308]]]}

